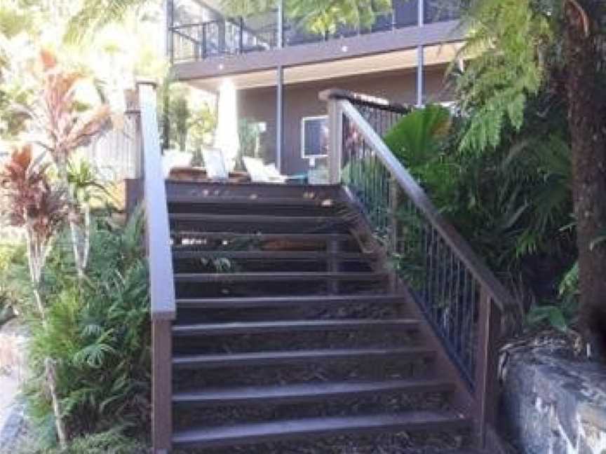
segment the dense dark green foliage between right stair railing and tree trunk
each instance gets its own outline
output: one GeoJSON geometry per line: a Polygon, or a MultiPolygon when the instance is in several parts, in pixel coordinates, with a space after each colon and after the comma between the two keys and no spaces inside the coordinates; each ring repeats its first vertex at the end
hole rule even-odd
{"type": "MultiPolygon", "coordinates": [[[[490,268],[555,298],[575,260],[565,105],[549,93],[531,97],[523,128],[504,128],[499,146],[479,154],[459,150],[467,118],[440,109],[405,116],[386,144],[490,268]]],[[[400,262],[414,274],[417,259],[400,262]]]]}

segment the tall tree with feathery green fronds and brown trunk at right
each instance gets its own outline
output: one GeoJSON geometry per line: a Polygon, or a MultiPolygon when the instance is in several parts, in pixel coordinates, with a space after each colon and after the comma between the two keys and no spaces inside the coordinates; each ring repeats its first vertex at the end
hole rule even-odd
{"type": "Polygon", "coordinates": [[[603,0],[471,0],[458,78],[471,113],[461,146],[499,144],[520,128],[529,95],[550,90],[568,104],[581,329],[593,357],[606,359],[606,5],[603,0]]]}

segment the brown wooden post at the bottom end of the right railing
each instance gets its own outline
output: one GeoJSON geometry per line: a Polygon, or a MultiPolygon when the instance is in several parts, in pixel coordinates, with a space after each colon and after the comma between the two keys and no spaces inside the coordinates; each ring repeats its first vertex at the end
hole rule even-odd
{"type": "Polygon", "coordinates": [[[499,400],[499,351],[501,310],[484,287],[480,287],[478,350],[476,351],[477,444],[485,447],[487,427],[494,427],[499,400]]]}

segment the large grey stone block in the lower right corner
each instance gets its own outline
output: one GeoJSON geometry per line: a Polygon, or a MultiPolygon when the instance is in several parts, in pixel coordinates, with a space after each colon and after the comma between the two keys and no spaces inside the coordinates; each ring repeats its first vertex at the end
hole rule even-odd
{"type": "Polygon", "coordinates": [[[529,347],[503,380],[501,417],[521,453],[606,453],[605,366],[529,347]]]}

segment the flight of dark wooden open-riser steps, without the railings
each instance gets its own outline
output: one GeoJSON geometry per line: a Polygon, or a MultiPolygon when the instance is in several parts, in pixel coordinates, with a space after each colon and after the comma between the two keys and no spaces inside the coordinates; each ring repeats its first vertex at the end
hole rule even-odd
{"type": "Polygon", "coordinates": [[[469,430],[338,186],[208,189],[168,188],[174,448],[469,430]]]}

